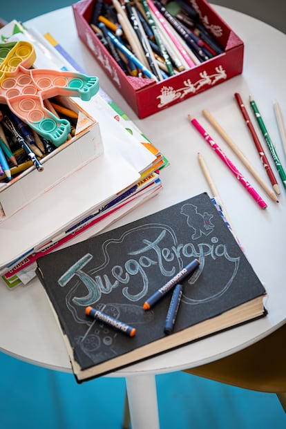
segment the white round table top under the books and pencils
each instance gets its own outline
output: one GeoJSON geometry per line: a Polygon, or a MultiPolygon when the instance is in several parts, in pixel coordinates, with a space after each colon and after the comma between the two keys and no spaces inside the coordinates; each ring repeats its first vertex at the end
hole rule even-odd
{"type": "MultiPolygon", "coordinates": [[[[77,37],[72,8],[55,10],[26,22],[27,27],[36,28],[41,34],[50,32],[61,46],[77,59],[86,73],[97,75],[106,93],[148,135],[171,163],[161,173],[163,189],[159,195],[137,207],[132,213],[128,213],[122,220],[113,224],[113,227],[158,211],[197,193],[209,191],[197,160],[197,153],[200,151],[211,167],[211,175],[247,257],[267,289],[265,306],[268,315],[265,318],[131,365],[111,376],[159,374],[201,365],[262,339],[286,321],[284,287],[286,191],[279,181],[281,191],[279,204],[270,200],[261,191],[268,204],[266,210],[261,210],[217,159],[187,118],[187,115],[191,114],[202,124],[207,124],[201,113],[204,108],[214,117],[222,115],[225,130],[242,152],[247,154],[251,164],[266,181],[265,171],[242,121],[233,94],[238,92],[244,99],[248,99],[249,95],[256,99],[265,117],[269,134],[276,142],[278,155],[285,165],[286,158],[274,115],[274,100],[278,100],[286,115],[286,57],[279,55],[279,50],[282,52],[284,49],[286,35],[240,12],[221,6],[213,7],[245,42],[242,75],[144,120],[136,117],[77,37]]],[[[213,128],[210,126],[206,128],[216,139],[213,128]]],[[[245,172],[249,178],[236,155],[231,153],[224,142],[221,146],[238,169],[245,172]]],[[[268,158],[270,159],[270,155],[268,158]]],[[[276,176],[278,177],[277,174],[276,176]]],[[[249,182],[254,182],[254,179],[249,178],[249,182]]],[[[71,371],[64,341],[39,280],[32,280],[28,285],[12,291],[4,284],[0,286],[0,350],[30,363],[71,371]]]]}

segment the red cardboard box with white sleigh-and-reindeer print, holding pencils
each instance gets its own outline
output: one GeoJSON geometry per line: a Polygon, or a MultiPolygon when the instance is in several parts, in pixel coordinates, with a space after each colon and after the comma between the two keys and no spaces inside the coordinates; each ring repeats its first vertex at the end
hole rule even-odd
{"type": "Polygon", "coordinates": [[[242,40],[207,1],[189,0],[191,6],[199,13],[205,28],[224,48],[224,52],[162,82],[127,76],[90,27],[95,1],[82,0],[73,4],[78,35],[140,118],[162,111],[242,73],[244,52],[242,40]]]}

